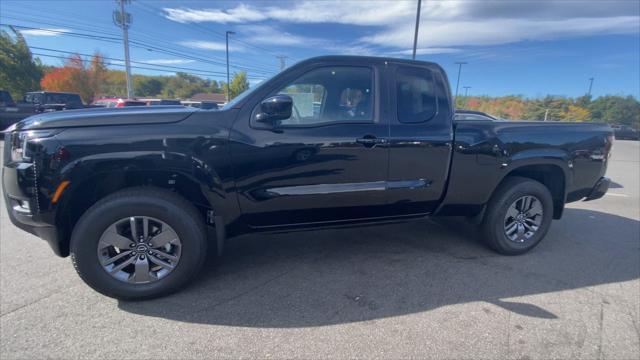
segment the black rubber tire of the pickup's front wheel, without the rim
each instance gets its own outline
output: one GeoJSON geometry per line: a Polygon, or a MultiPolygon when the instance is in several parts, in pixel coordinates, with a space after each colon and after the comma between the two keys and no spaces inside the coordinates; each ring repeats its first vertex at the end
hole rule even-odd
{"type": "Polygon", "coordinates": [[[82,278],[96,291],[121,300],[143,300],[168,295],[191,281],[207,254],[202,216],[184,198],[158,188],[136,187],[113,193],[94,204],[78,220],[71,235],[71,260],[82,278]],[[165,277],[150,283],[126,283],[109,275],[98,259],[98,242],[113,223],[130,216],[147,216],[168,224],[181,242],[180,260],[165,277]]]}

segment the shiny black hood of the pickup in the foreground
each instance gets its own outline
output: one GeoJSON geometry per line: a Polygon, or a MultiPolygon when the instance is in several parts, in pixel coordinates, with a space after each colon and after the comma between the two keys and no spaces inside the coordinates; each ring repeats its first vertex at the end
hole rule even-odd
{"type": "Polygon", "coordinates": [[[199,111],[184,106],[131,106],[47,112],[30,116],[5,131],[82,126],[163,124],[178,122],[199,111]]]}

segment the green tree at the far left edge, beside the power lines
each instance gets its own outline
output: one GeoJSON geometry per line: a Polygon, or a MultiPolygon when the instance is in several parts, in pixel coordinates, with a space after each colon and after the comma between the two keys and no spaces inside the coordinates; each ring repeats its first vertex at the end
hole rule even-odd
{"type": "Polygon", "coordinates": [[[22,99],[25,92],[40,89],[42,65],[39,59],[33,59],[22,34],[13,30],[13,35],[0,31],[0,89],[9,91],[14,99],[22,99]]]}

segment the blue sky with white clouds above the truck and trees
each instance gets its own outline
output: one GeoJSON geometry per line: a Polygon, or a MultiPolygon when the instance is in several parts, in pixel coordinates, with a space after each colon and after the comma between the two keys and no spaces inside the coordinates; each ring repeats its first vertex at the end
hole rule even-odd
{"type": "MultiPolygon", "coordinates": [[[[43,63],[101,52],[122,69],[113,0],[0,1],[0,23],[22,32],[43,63]],[[46,55],[46,56],[45,56],[46,55]]],[[[126,5],[134,74],[184,71],[252,85],[285,65],[328,54],[411,58],[417,0],[151,1],[126,5]]],[[[417,59],[439,63],[460,93],[640,98],[640,0],[423,0],[417,59]],[[463,87],[469,87],[464,89],[463,87]]],[[[88,59],[89,56],[86,56],[88,59]]]]}

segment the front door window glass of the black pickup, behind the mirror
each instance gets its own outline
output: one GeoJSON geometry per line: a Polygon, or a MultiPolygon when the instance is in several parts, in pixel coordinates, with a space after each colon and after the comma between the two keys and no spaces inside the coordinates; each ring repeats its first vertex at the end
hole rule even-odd
{"type": "Polygon", "coordinates": [[[281,125],[316,125],[373,120],[373,72],[335,66],[311,70],[278,94],[293,99],[291,117],[281,125]]]}

